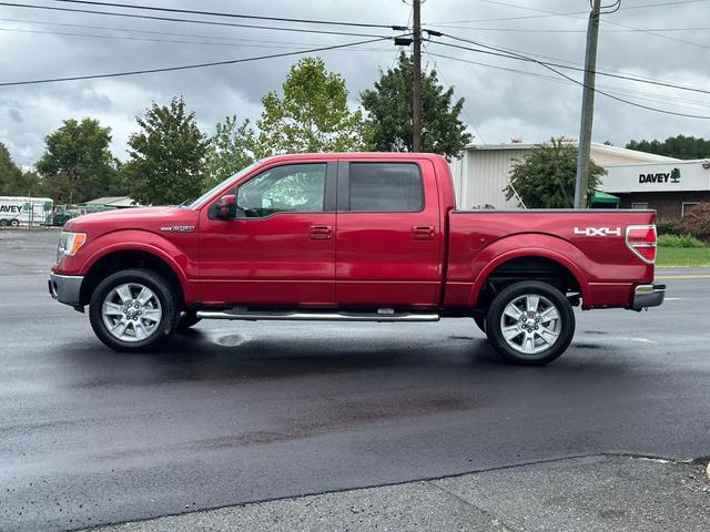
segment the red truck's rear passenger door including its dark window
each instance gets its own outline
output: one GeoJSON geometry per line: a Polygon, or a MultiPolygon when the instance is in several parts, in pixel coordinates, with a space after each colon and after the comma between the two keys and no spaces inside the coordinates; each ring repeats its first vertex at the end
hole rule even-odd
{"type": "Polygon", "coordinates": [[[436,306],[444,238],[432,162],[343,160],[337,195],[338,306],[436,306]]]}

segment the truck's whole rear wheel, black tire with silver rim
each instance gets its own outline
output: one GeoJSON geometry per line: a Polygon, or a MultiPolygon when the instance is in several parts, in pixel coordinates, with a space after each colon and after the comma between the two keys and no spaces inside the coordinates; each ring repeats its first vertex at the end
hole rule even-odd
{"type": "Polygon", "coordinates": [[[490,304],[486,332],[505,361],[542,366],[569,347],[575,313],[554,286],[536,280],[515,283],[490,304]]]}

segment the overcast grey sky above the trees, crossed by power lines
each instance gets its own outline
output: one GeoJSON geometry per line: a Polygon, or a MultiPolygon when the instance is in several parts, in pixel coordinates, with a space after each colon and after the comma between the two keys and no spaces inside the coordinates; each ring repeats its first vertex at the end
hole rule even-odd
{"type": "MultiPolygon", "coordinates": [[[[402,0],[116,1],[386,24],[406,24],[410,13],[410,7],[402,0]]],[[[23,3],[139,12],[51,0],[24,0],[23,3]]],[[[636,76],[710,89],[709,0],[622,0],[618,12],[602,18],[598,54],[600,70],[623,71],[636,76]],[[669,6],[655,6],[666,3],[669,6]],[[673,31],[663,31],[669,29],[673,31]]],[[[588,0],[427,0],[423,7],[423,22],[453,35],[536,54],[540,59],[545,57],[545,61],[581,66],[587,16],[549,16],[542,11],[584,13],[588,9],[588,0]],[[446,28],[442,25],[444,23],[446,28]]],[[[263,21],[152,14],[278,25],[263,21]]],[[[325,25],[283,25],[338,30],[337,27],[325,25]]],[[[386,29],[341,30],[394,34],[386,29]]],[[[362,39],[365,38],[0,6],[0,83],[222,61],[362,39]]],[[[555,74],[535,63],[436,43],[427,44],[427,50],[432,54],[447,57],[425,53],[424,60],[428,66],[436,65],[444,83],[453,84],[457,96],[466,99],[463,120],[475,135],[475,142],[509,142],[511,137],[539,142],[552,135],[578,136],[579,86],[567,81],[550,80],[555,74]]],[[[320,54],[325,59],[328,70],[343,74],[349,90],[351,105],[356,108],[359,92],[372,86],[379,69],[393,65],[396,53],[392,42],[384,41],[359,49],[320,54]]],[[[257,117],[263,94],[280,89],[288,68],[297,59],[292,57],[170,73],[0,88],[0,142],[8,146],[17,163],[31,165],[42,154],[44,136],[60,126],[62,120],[93,116],[111,127],[112,150],[119,158],[125,158],[126,139],[136,127],[135,115],[142,114],[151,101],[166,103],[174,95],[184,95],[203,131],[211,134],[214,124],[225,115],[236,114],[240,120],[257,117]]],[[[578,72],[566,72],[575,79],[581,79],[578,72]]],[[[601,90],[643,105],[710,115],[710,94],[707,93],[610,78],[598,78],[597,83],[601,90]]],[[[710,121],[651,112],[597,95],[594,130],[594,140],[597,142],[611,141],[616,145],[623,145],[631,139],[666,139],[680,133],[709,137],[710,121]]]]}

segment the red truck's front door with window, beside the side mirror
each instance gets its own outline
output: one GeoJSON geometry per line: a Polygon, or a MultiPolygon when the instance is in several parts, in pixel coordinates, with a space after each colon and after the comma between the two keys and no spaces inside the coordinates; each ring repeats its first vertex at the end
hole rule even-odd
{"type": "Polygon", "coordinates": [[[336,163],[282,164],[240,184],[237,217],[200,225],[206,304],[335,305],[336,163]]]}

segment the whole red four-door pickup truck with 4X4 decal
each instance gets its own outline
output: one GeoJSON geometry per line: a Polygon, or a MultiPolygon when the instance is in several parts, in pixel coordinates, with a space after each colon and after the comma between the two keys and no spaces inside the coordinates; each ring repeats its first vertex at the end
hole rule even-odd
{"type": "Polygon", "coordinates": [[[652,211],[457,211],[430,154],[284,155],[189,205],[90,214],[61,234],[49,290],[109,347],[200,319],[471,317],[504,359],[541,365],[572,307],[660,305],[652,211]]]}

